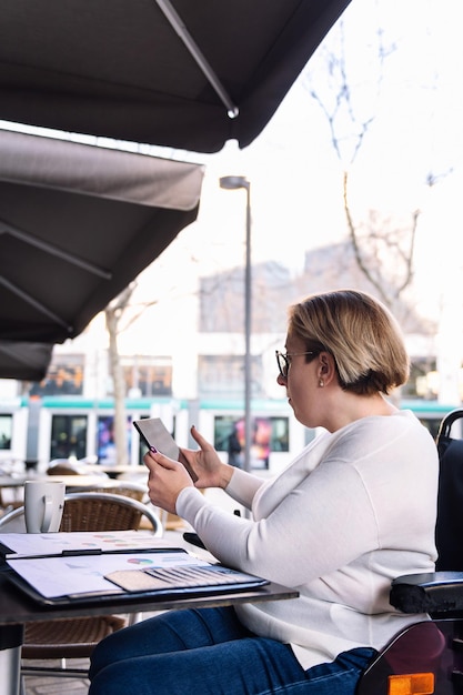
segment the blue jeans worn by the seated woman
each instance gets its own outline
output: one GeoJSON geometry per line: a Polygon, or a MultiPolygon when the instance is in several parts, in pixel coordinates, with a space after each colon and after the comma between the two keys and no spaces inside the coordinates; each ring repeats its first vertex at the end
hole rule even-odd
{"type": "Polygon", "coordinates": [[[171,611],[94,649],[89,695],[353,695],[374,649],[304,671],[290,646],[259,637],[232,607],[171,611]]]}

